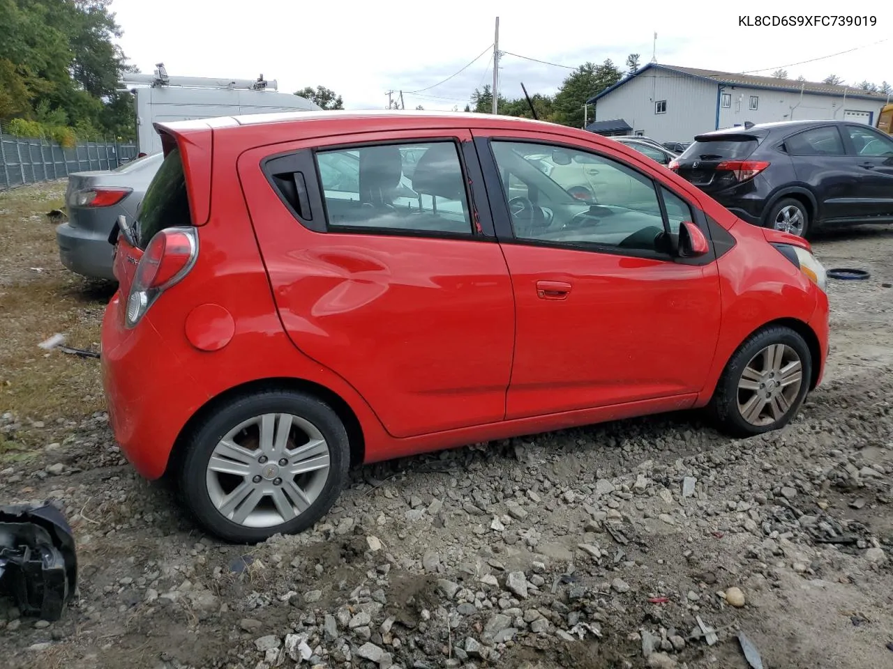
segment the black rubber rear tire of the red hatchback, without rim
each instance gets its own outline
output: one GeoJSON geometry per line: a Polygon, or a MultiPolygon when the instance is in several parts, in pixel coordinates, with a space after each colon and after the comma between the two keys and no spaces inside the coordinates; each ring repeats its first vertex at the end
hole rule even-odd
{"type": "MultiPolygon", "coordinates": [[[[254,392],[221,404],[200,425],[196,425],[179,467],[179,490],[187,508],[206,531],[224,541],[256,543],[269,539],[273,534],[296,534],[312,527],[338,499],[349,466],[350,446],[345,426],[325,402],[303,392],[254,392]],[[214,505],[207,469],[214,449],[230,430],[266,414],[290,414],[313,424],[328,444],[328,478],[310,506],[295,518],[266,527],[249,527],[233,522],[214,505]]],[[[247,481],[247,477],[244,480],[247,481]]]]}

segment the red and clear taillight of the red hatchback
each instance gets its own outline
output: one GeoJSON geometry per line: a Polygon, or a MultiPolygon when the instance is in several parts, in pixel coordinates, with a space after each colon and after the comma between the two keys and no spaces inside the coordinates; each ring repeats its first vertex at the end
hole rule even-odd
{"type": "Polygon", "coordinates": [[[136,326],[164,291],[188,275],[196,258],[198,232],[195,227],[168,227],[154,235],[139,259],[130,285],[125,325],[136,326]]]}

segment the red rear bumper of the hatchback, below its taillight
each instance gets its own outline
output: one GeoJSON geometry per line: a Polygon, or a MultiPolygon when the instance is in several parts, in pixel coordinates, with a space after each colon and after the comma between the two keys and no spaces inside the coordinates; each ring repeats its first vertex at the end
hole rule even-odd
{"type": "Polygon", "coordinates": [[[208,396],[148,320],[132,330],[124,327],[123,307],[115,293],[103,318],[105,401],[124,456],[139,475],[154,480],[164,474],[180,431],[208,396]]]}

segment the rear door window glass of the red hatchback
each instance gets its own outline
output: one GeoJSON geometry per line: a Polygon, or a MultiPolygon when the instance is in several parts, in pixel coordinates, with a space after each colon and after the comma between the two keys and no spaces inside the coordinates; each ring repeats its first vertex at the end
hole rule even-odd
{"type": "Polygon", "coordinates": [[[472,234],[453,142],[320,151],[316,161],[330,229],[472,234]]]}

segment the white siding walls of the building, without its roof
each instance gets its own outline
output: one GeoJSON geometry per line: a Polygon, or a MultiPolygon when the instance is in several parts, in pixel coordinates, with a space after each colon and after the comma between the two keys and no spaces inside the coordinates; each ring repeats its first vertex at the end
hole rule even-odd
{"type": "MultiPolygon", "coordinates": [[[[595,120],[623,119],[633,127],[630,134],[642,130],[658,142],[688,142],[716,128],[717,88],[718,84],[697,78],[647,70],[598,100],[595,120]],[[666,113],[655,113],[655,103],[660,100],[666,100],[666,113]]],[[[731,95],[731,106],[720,107],[720,128],[744,125],[745,121],[843,120],[847,110],[870,111],[870,121],[858,120],[873,126],[884,103],[809,93],[801,100],[799,93],[743,86],[725,87],[722,92],[731,95]],[[755,111],[749,109],[751,95],[758,98],[755,111]]]]}

